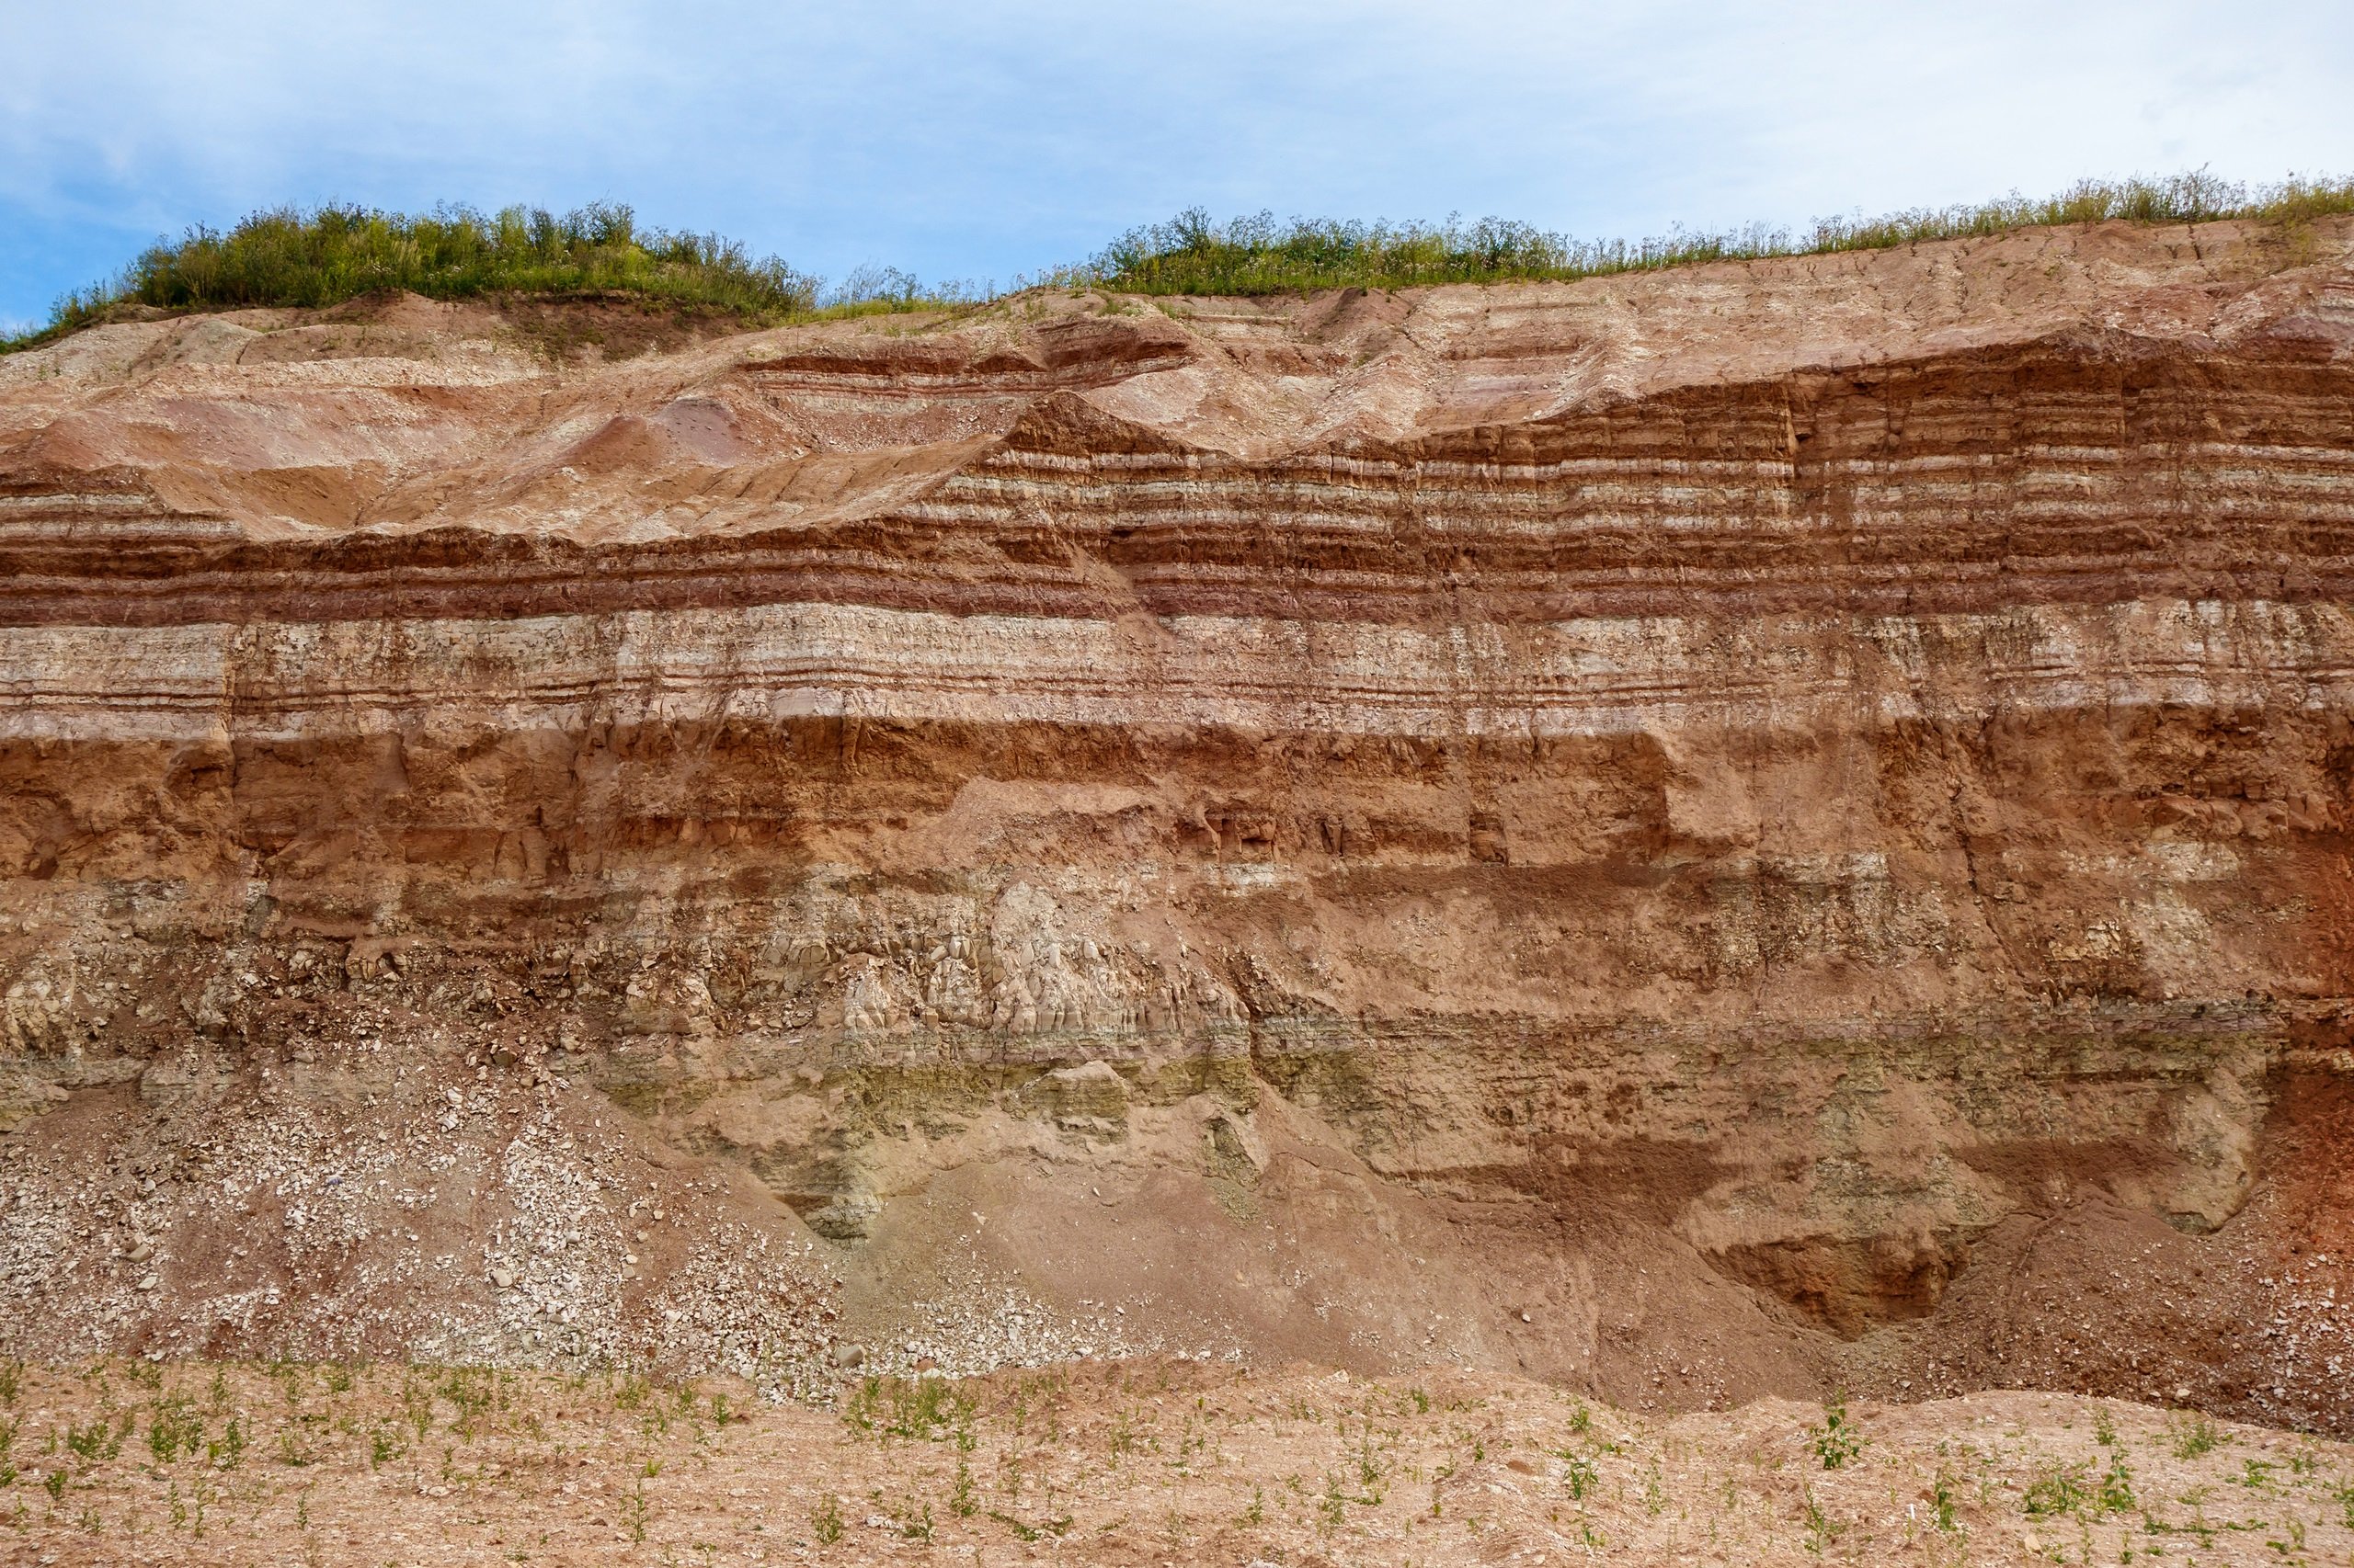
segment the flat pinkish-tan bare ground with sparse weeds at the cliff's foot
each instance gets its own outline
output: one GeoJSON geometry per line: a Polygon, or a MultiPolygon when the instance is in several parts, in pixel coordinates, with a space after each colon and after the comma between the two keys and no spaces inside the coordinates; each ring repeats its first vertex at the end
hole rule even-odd
{"type": "MultiPolygon", "coordinates": [[[[744,1389],[104,1361],[7,1380],[38,1563],[2279,1563],[2354,1453],[2060,1394],[1645,1420],[1436,1373],[1078,1363],[744,1389]]],[[[7,1535],[0,1535],[7,1540],[7,1535]]]]}

